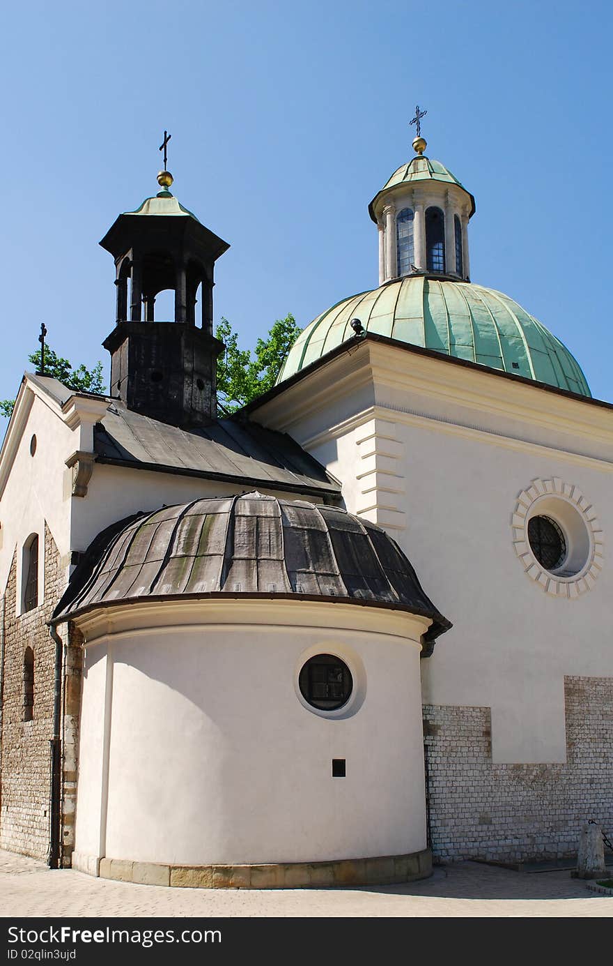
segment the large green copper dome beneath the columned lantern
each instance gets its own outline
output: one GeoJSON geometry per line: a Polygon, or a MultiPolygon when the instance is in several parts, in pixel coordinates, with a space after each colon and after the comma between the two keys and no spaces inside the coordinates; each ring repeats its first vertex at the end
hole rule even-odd
{"type": "Polygon", "coordinates": [[[513,298],[482,285],[407,275],[345,298],[300,333],[277,382],[368,332],[591,396],[569,350],[513,298]]]}

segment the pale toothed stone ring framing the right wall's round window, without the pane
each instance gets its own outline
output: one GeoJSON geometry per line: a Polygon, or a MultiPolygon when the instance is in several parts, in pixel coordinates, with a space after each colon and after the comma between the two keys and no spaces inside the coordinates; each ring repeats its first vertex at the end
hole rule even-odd
{"type": "Polygon", "coordinates": [[[511,529],[515,554],[524,568],[524,573],[546,593],[572,600],[594,586],[604,562],[602,528],[596,510],[577,486],[565,483],[557,476],[545,480],[533,479],[531,485],[517,495],[511,529]],[[530,518],[534,516],[532,511],[538,504],[543,503],[544,512],[544,501],[547,500],[550,505],[550,497],[559,501],[561,508],[564,504],[573,507],[581,518],[588,537],[585,563],[571,576],[546,571],[532,553],[528,541],[527,526],[530,518]]]}

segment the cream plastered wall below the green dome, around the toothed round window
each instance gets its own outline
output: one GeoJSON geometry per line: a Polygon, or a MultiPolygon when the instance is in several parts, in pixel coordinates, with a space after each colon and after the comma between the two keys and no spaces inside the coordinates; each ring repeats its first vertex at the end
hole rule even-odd
{"type": "Polygon", "coordinates": [[[256,417],[342,481],[348,510],[398,540],[453,621],[423,662],[424,701],[491,707],[494,762],[563,762],[564,675],[613,676],[613,412],[400,349],[362,352],[373,405],[354,355],[293,387],[291,423],[274,400],[256,417]],[[318,380],[344,390],[333,409],[318,380]],[[514,549],[519,493],[553,477],[579,488],[603,534],[598,580],[574,600],[545,593],[514,549]]]}

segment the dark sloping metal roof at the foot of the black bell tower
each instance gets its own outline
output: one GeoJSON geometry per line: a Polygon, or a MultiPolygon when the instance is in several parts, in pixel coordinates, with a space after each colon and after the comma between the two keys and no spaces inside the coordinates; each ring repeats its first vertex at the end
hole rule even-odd
{"type": "Polygon", "coordinates": [[[114,400],[95,426],[98,463],[242,483],[338,499],[340,484],[295,440],[246,420],[183,430],[114,400]]]}

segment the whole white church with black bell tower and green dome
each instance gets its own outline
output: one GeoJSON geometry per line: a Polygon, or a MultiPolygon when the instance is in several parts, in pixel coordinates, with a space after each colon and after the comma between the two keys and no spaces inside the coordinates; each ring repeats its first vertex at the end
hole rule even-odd
{"type": "Polygon", "coordinates": [[[0,452],[0,847],[278,888],[611,835],[613,406],[471,281],[426,147],[369,206],[378,287],[231,416],[228,243],[167,170],[100,242],[108,395],[26,373],[0,452]]]}

